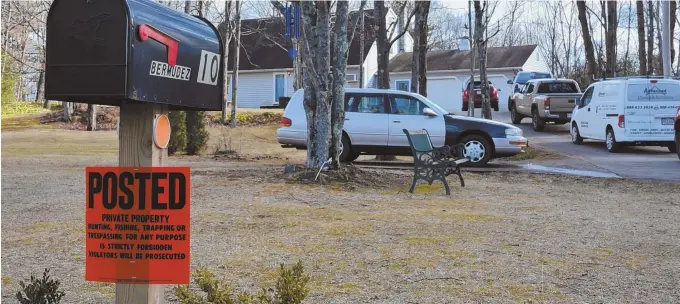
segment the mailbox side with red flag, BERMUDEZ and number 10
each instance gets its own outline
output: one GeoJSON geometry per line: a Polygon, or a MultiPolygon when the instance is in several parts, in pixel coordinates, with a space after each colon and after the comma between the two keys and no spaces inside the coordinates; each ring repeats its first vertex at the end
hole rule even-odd
{"type": "Polygon", "coordinates": [[[128,0],[132,52],[127,98],[222,110],[222,39],[207,20],[151,0],[128,0]]]}

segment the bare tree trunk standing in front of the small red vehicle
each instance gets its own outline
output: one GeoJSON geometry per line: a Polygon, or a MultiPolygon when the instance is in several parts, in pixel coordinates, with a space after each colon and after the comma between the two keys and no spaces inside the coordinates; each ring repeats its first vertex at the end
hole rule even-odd
{"type": "MultiPolygon", "coordinates": [[[[485,119],[492,119],[491,117],[491,100],[489,92],[489,81],[486,75],[486,38],[484,37],[484,32],[486,31],[487,24],[486,18],[484,17],[485,10],[487,8],[487,3],[484,2],[482,6],[480,1],[475,1],[475,45],[477,47],[477,52],[479,54],[479,81],[480,89],[482,93],[482,117],[485,119]]],[[[474,80],[473,80],[474,81],[474,80]]],[[[474,84],[474,82],[473,82],[474,84]]],[[[474,94],[471,92],[471,94],[474,94]]],[[[471,105],[474,106],[474,103],[471,105]]]]}

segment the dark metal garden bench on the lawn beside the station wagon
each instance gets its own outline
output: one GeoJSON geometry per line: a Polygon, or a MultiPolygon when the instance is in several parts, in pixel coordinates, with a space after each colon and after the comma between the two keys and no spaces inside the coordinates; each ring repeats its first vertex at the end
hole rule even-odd
{"type": "Polygon", "coordinates": [[[409,192],[413,193],[418,180],[424,180],[430,185],[435,180],[440,180],[444,183],[446,195],[450,195],[449,183],[446,182],[446,176],[450,174],[458,175],[460,186],[465,187],[459,165],[470,160],[463,157],[463,146],[461,144],[435,148],[427,130],[409,131],[403,129],[403,131],[406,133],[413,152],[415,170],[409,192]]]}

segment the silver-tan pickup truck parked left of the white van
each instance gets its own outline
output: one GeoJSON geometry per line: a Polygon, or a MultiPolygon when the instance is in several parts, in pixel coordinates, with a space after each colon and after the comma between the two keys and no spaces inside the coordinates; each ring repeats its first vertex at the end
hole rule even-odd
{"type": "Polygon", "coordinates": [[[513,124],[531,117],[535,131],[543,131],[546,122],[565,124],[571,119],[581,88],[571,79],[533,79],[512,95],[508,104],[513,124]]]}

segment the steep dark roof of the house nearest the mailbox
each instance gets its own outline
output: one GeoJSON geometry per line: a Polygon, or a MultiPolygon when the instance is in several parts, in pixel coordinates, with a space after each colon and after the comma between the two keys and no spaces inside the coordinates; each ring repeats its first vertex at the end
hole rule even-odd
{"type": "MultiPolygon", "coordinates": [[[[364,10],[364,57],[360,59],[360,34],[354,31],[354,20],[359,12],[350,12],[347,32],[352,39],[347,58],[348,65],[358,65],[365,60],[373,42],[376,31],[373,10],[364,10]]],[[[232,39],[231,44],[233,45],[232,39]]],[[[232,46],[233,47],[233,46],[232,46]]],[[[288,57],[287,42],[284,32],[283,17],[241,20],[241,50],[239,53],[239,70],[266,70],[293,68],[293,60],[288,57]]],[[[299,51],[299,50],[298,50],[299,51]]],[[[299,54],[299,53],[298,53],[299,54]]],[[[233,70],[233,55],[230,53],[229,70],[233,70]]]]}

